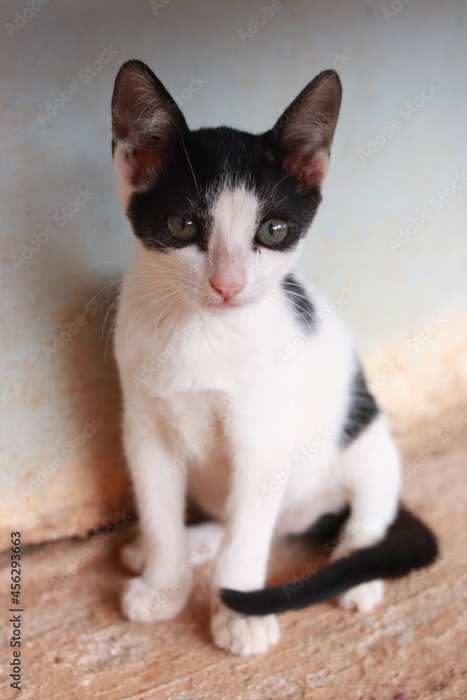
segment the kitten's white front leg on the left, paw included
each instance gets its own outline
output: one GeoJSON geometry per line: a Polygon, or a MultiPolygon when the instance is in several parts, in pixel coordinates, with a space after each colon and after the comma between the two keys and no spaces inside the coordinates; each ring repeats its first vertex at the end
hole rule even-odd
{"type": "Polygon", "coordinates": [[[132,414],[124,440],[139,511],[140,576],[122,594],[128,619],[155,622],[183,609],[193,575],[186,566],[188,543],[184,525],[184,470],[167,473],[171,457],[162,431],[148,416],[132,414]]]}

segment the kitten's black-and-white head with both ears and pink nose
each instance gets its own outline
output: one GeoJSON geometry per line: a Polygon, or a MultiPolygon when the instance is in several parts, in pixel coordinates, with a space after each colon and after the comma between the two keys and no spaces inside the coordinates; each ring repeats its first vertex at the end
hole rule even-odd
{"type": "Polygon", "coordinates": [[[321,201],[341,94],[323,71],[263,134],[192,131],[146,64],[123,64],[112,153],[139,260],[198,307],[263,297],[293,267],[321,201]]]}

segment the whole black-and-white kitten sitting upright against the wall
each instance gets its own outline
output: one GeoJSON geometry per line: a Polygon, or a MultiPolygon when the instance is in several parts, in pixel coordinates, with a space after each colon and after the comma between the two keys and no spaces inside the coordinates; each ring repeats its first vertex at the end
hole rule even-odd
{"type": "Polygon", "coordinates": [[[398,453],[347,331],[291,272],[321,201],[341,92],[323,71],[253,135],[190,131],[140,61],[121,67],[113,91],[118,194],[136,246],[115,335],[141,525],[122,554],[140,574],[123,611],[177,615],[209,544],[214,643],[237,654],[277,643],[274,612],[335,596],[371,610],[382,578],[437,554],[398,506],[398,453]],[[187,528],[187,496],[214,522],[187,528]],[[343,528],[333,563],[300,588],[263,589],[272,537],[316,521],[325,536],[343,528]]]}

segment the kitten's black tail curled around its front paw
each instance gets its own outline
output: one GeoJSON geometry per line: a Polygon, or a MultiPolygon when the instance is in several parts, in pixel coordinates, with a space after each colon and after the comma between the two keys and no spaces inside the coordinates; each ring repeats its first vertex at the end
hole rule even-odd
{"type": "Polygon", "coordinates": [[[294,583],[259,591],[221,590],[221,600],[246,615],[270,615],[329,601],[361,583],[400,578],[428,566],[438,556],[435,535],[417,517],[400,507],[386,537],[377,545],[357,549],[312,575],[298,588],[294,583]]]}

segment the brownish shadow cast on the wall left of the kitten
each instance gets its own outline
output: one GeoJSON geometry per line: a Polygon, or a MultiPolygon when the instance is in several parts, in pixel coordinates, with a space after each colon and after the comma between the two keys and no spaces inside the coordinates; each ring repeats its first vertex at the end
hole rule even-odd
{"type": "MultiPolygon", "coordinates": [[[[53,255],[62,253],[66,246],[56,239],[53,255]]],[[[28,544],[88,535],[112,522],[116,512],[133,507],[111,337],[118,274],[105,277],[96,272],[99,280],[83,288],[81,261],[61,260],[64,268],[74,268],[74,303],[57,304],[42,337],[35,338],[36,367],[29,376],[39,400],[36,420],[44,423],[39,426],[42,444],[6,498],[0,548],[8,547],[11,523],[28,544]],[[43,421],[45,414],[50,417],[43,421]]],[[[44,256],[41,263],[50,265],[50,260],[44,256]]],[[[43,291],[44,297],[47,293],[43,291]]]]}

